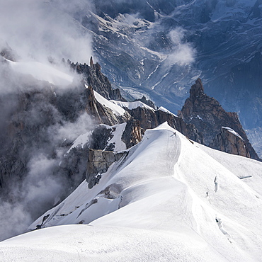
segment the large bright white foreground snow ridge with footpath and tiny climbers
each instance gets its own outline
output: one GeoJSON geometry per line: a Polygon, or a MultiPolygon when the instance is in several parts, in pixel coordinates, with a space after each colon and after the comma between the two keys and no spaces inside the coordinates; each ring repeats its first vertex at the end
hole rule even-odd
{"type": "Polygon", "coordinates": [[[166,123],[147,130],[128,152],[98,185],[89,190],[84,181],[45,213],[50,216],[43,223],[42,216],[31,227],[89,225],[50,227],[8,239],[0,244],[0,258],[261,260],[260,162],[207,149],[166,123]]]}

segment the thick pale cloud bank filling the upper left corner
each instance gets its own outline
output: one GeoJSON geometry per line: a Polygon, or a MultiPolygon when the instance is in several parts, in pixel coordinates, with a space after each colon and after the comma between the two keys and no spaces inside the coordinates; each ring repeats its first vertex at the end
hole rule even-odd
{"type": "MultiPolygon", "coordinates": [[[[89,61],[92,55],[89,33],[64,12],[72,5],[61,6],[60,11],[41,0],[1,2],[4,3],[1,3],[0,37],[23,59],[33,57],[42,62],[51,56],[58,60],[64,57],[74,62],[89,61]]],[[[75,4],[75,10],[76,7],[75,4]]]]}

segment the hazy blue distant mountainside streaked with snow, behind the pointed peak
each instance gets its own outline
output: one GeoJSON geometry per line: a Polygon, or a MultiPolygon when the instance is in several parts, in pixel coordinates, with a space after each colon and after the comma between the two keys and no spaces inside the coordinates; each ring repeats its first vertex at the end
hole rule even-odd
{"type": "Polygon", "coordinates": [[[207,94],[238,112],[244,128],[261,126],[261,1],[95,5],[82,24],[115,84],[176,113],[200,76],[207,94]]]}

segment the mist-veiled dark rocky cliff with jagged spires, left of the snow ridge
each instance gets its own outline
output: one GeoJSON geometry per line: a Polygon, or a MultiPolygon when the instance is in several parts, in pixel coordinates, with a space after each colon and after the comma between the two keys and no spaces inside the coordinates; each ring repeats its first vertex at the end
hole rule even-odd
{"type": "MultiPolygon", "coordinates": [[[[112,89],[100,66],[92,60],[90,66],[70,63],[72,69],[81,74],[82,80],[66,89],[11,72],[6,62],[1,66],[2,79],[9,89],[0,95],[0,142],[3,145],[0,149],[0,195],[4,199],[18,202],[25,198],[18,192],[23,191],[24,184],[28,183],[25,181],[31,175],[35,176],[35,183],[42,183],[45,178],[58,180],[60,192],[57,190],[57,195],[61,198],[72,192],[86,176],[89,147],[106,147],[101,147],[101,142],[98,145],[93,142],[93,137],[101,139],[96,135],[101,132],[97,131],[82,147],[72,147],[72,144],[78,135],[96,130],[97,125],[127,122],[123,136],[127,147],[142,139],[139,123],[132,120],[129,113],[115,115],[110,108],[96,101],[92,86],[107,98],[123,98],[119,90],[112,89]],[[46,164],[39,167],[42,162],[46,164]],[[12,188],[16,188],[16,193],[12,188]]],[[[109,135],[106,129],[103,132],[107,140],[110,130],[109,135]]]]}

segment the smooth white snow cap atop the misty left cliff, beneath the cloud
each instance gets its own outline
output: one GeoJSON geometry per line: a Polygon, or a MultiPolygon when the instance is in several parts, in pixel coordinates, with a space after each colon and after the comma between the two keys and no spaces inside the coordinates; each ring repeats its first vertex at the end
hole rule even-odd
{"type": "Polygon", "coordinates": [[[74,76],[66,74],[55,67],[40,62],[13,62],[6,59],[13,71],[21,74],[29,74],[40,81],[48,81],[51,84],[67,86],[72,84],[74,76]]]}

